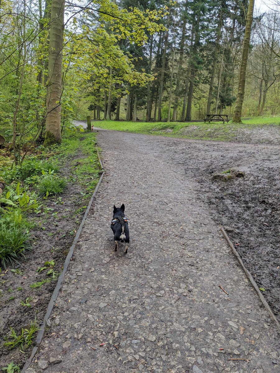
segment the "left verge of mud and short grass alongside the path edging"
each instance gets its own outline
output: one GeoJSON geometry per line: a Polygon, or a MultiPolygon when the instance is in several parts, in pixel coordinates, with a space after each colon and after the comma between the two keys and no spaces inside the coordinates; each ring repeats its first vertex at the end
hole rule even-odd
{"type": "MultiPolygon", "coordinates": [[[[43,199],[37,196],[38,208],[25,214],[31,234],[31,248],[25,253],[26,260],[19,260],[14,267],[2,267],[0,272],[0,370],[11,362],[22,367],[30,355],[32,345],[24,352],[20,347],[9,350],[3,346],[4,337],[10,334],[10,327],[19,336],[22,328],[29,329],[34,320],[37,325],[43,321],[58,275],[99,179],[95,142],[95,134],[78,132],[64,138],[59,148],[44,150],[39,147],[34,153],[28,153],[25,162],[35,159],[55,163],[59,167],[59,177],[66,178],[67,187],[56,197],[43,199]],[[51,260],[55,263],[53,276],[48,276],[46,269],[38,272],[46,261],[51,260]]],[[[1,152],[7,160],[9,151],[1,152]]],[[[38,193],[35,185],[29,186],[28,194],[31,192],[38,193]]],[[[33,339],[36,334],[32,335],[33,339]]]]}

